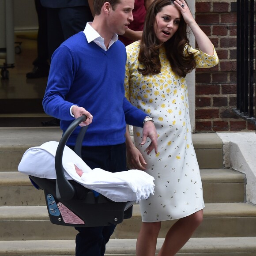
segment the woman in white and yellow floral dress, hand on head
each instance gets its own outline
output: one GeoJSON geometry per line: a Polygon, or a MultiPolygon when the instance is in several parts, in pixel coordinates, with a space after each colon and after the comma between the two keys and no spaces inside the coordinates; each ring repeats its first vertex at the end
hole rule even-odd
{"type": "Polygon", "coordinates": [[[147,10],[143,36],[126,46],[126,97],[151,117],[158,132],[157,154],[134,143],[126,133],[129,166],[155,178],[155,192],[140,201],[142,226],[136,255],[154,256],[162,221],[177,220],[169,228],[158,256],[173,256],[203,220],[203,190],[192,144],[188,88],[185,76],[194,68],[218,64],[215,48],[193,18],[185,0],[155,0],[147,10]],[[188,29],[199,49],[189,45],[188,29]]]}

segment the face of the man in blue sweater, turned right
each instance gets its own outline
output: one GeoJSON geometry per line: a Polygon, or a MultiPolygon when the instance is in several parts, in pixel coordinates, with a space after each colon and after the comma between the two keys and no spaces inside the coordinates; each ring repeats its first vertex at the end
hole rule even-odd
{"type": "Polygon", "coordinates": [[[134,0],[120,0],[120,3],[113,10],[109,11],[109,27],[113,33],[124,34],[128,25],[133,21],[132,10],[134,9],[134,0]]]}

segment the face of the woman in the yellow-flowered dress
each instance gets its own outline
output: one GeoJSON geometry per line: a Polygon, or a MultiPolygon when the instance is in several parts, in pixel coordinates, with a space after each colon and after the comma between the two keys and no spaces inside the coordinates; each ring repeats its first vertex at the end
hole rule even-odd
{"type": "Polygon", "coordinates": [[[166,42],[177,31],[181,12],[174,5],[166,5],[155,16],[154,32],[160,42],[166,42]]]}

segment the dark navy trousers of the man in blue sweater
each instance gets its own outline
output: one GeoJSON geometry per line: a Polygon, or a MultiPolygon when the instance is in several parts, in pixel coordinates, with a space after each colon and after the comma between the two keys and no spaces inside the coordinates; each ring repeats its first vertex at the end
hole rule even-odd
{"type": "MultiPolygon", "coordinates": [[[[112,173],[126,170],[125,143],[114,146],[82,147],[82,159],[91,168],[101,168],[112,173]]],[[[75,227],[76,256],[104,256],[105,245],[116,225],[104,227],[75,227]]]]}

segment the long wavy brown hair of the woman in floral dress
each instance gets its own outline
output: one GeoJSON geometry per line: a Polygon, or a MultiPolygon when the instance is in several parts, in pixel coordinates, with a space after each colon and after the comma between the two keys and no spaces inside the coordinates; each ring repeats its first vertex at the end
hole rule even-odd
{"type": "MultiPolygon", "coordinates": [[[[143,68],[138,67],[138,71],[143,75],[154,75],[161,72],[159,48],[162,43],[158,40],[154,31],[155,17],[158,12],[162,11],[163,7],[174,5],[173,1],[155,0],[147,10],[138,57],[139,62],[144,66],[143,68]]],[[[182,77],[185,77],[196,67],[193,53],[188,52],[184,55],[184,47],[189,45],[187,33],[187,24],[181,15],[178,30],[172,38],[164,43],[166,56],[173,72],[182,77]]]]}

